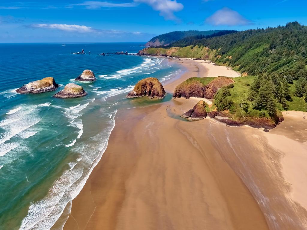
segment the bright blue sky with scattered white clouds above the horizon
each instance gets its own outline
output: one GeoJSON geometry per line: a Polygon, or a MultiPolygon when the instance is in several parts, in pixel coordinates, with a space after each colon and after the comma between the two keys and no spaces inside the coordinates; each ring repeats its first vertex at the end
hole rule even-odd
{"type": "Polygon", "coordinates": [[[185,30],[307,25],[304,0],[0,0],[0,43],[146,42],[185,30]]]}

